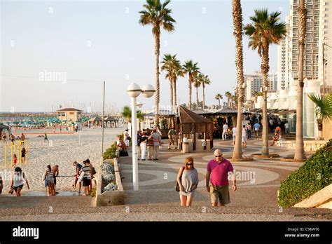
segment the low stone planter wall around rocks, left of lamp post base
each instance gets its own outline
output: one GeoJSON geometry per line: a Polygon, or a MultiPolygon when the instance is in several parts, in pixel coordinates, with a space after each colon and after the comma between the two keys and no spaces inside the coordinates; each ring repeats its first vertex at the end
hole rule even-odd
{"type": "Polygon", "coordinates": [[[113,206],[125,204],[125,194],[120,177],[118,158],[113,158],[113,162],[114,175],[116,177],[116,185],[118,186],[118,189],[116,191],[104,191],[102,193],[102,173],[100,173],[97,179],[96,206],[113,206]]]}

